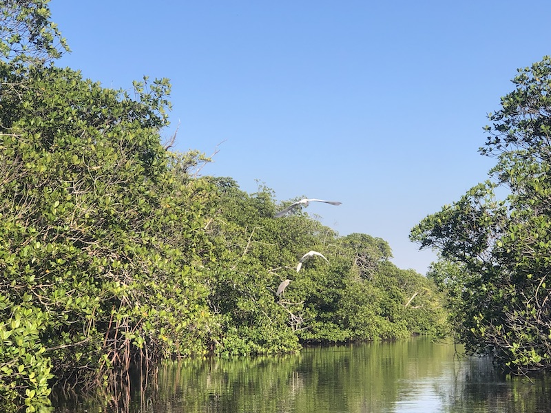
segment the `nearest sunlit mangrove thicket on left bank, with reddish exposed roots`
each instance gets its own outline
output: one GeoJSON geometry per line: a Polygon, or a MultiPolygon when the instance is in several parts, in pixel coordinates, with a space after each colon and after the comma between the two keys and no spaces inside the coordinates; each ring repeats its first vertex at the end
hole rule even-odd
{"type": "Polygon", "coordinates": [[[55,374],[92,387],[132,362],[203,354],[211,313],[199,270],[211,255],[199,230],[211,186],[190,180],[187,158],[160,144],[168,83],[136,83],[133,99],[69,69],[1,63],[0,74],[0,290],[9,303],[0,313],[13,319],[25,306],[34,326],[9,330],[28,342],[23,372],[3,343],[6,398],[13,385],[25,401],[44,396],[27,372],[40,385],[55,374]]]}

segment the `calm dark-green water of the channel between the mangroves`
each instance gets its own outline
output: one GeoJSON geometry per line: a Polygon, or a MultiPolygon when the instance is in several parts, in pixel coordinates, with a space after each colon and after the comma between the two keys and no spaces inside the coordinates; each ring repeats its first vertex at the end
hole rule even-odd
{"type": "Polygon", "coordinates": [[[455,350],[417,338],[163,363],[143,392],[114,401],[60,398],[54,405],[66,413],[551,412],[551,377],[506,377],[488,359],[455,350]]]}

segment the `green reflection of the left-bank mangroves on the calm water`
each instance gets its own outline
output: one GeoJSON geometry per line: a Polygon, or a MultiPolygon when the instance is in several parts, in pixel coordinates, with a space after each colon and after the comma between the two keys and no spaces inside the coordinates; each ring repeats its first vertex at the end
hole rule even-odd
{"type": "Polygon", "coordinates": [[[433,360],[453,353],[448,345],[417,339],[313,347],[287,357],[166,363],[153,399],[171,398],[178,412],[379,411],[393,405],[404,379],[442,374],[433,360]]]}

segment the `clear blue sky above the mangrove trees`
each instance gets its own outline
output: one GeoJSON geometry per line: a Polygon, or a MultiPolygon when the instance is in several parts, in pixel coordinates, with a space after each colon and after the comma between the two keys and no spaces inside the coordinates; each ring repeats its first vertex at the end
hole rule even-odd
{"type": "Polygon", "coordinates": [[[169,138],[340,235],[386,240],[426,273],[410,229],[487,178],[482,127],[518,67],[551,54],[548,1],[52,0],[72,53],[105,87],[172,83],[169,138]],[[219,145],[220,144],[220,145],[219,145]]]}

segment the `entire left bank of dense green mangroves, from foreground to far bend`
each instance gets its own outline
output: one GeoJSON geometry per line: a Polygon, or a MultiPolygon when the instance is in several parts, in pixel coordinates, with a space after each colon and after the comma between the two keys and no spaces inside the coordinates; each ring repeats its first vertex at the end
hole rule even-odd
{"type": "Polygon", "coordinates": [[[0,1],[0,404],[109,388],[168,357],[435,334],[433,283],[366,234],[273,218],[264,185],[168,151],[166,79],[107,89],[52,59],[48,1],[0,1]],[[295,266],[307,251],[328,260],[295,266]],[[275,295],[283,279],[293,279],[275,295]],[[54,380],[52,380],[54,379],[54,380]]]}

